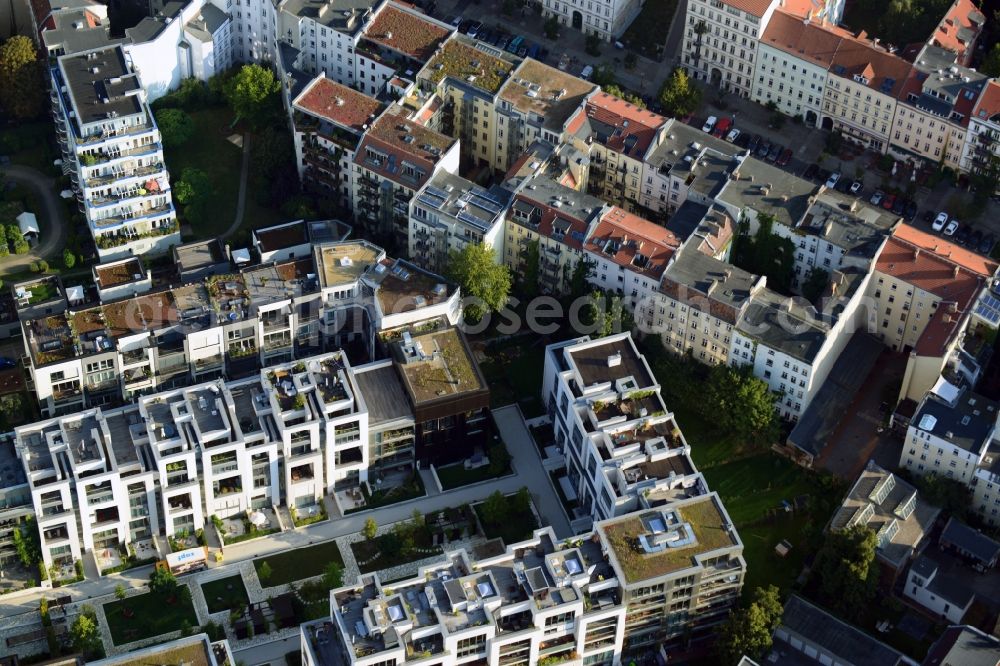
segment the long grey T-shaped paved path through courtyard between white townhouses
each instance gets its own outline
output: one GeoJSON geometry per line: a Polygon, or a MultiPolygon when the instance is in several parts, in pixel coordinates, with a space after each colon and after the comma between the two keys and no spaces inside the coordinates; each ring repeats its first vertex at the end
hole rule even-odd
{"type": "MultiPolygon", "coordinates": [[[[269,555],[290,548],[298,548],[310,544],[321,543],[357,534],[361,531],[365,520],[374,518],[380,526],[402,520],[409,520],[414,509],[420,509],[423,513],[431,511],[442,511],[448,507],[457,507],[462,504],[478,502],[485,499],[494,491],[509,494],[517,492],[522,486],[527,486],[531,490],[532,499],[543,522],[552,525],[556,536],[565,538],[572,536],[569,521],[563,512],[562,504],[552,487],[545,470],[542,468],[538,450],[531,439],[531,434],[524,425],[521,412],[516,406],[508,406],[497,409],[493,412],[497,426],[500,429],[503,440],[507,443],[507,448],[513,458],[512,464],[515,473],[500,479],[490,479],[474,485],[455,488],[442,493],[428,494],[426,497],[400,502],[390,506],[381,507],[372,511],[361,511],[344,516],[339,519],[327,520],[316,523],[308,527],[280,532],[255,541],[245,541],[227,546],[225,550],[225,562],[217,567],[212,567],[207,575],[209,578],[218,578],[224,575],[222,572],[232,567],[231,573],[237,573],[240,562],[269,555]],[[236,566],[234,566],[236,565],[236,566]]],[[[101,597],[114,593],[115,586],[119,583],[129,588],[144,586],[149,581],[151,567],[133,569],[120,574],[112,574],[95,580],[87,579],[81,583],[69,587],[60,588],[58,595],[69,595],[73,601],[83,601],[94,597],[101,597]]],[[[198,576],[198,579],[201,575],[198,576]]],[[[191,579],[188,579],[191,580],[191,579]]],[[[57,596],[49,591],[45,596],[57,596]]],[[[18,596],[16,599],[0,597],[0,615],[14,615],[24,612],[37,612],[38,600],[42,593],[33,593],[26,596],[18,596]]]]}

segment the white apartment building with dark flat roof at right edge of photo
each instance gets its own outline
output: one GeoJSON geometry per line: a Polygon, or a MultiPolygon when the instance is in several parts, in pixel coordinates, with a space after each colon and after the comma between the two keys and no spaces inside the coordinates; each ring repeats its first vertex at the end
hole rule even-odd
{"type": "Polygon", "coordinates": [[[971,485],[993,439],[997,404],[941,378],[917,407],[899,466],[971,485]]]}

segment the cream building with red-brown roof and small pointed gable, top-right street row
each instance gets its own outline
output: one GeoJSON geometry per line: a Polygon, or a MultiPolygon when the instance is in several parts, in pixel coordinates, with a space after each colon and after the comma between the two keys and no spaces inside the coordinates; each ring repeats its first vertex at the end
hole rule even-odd
{"type": "Polygon", "coordinates": [[[823,87],[820,127],[885,153],[910,69],[910,63],[866,41],[863,33],[842,40],[823,87]]]}

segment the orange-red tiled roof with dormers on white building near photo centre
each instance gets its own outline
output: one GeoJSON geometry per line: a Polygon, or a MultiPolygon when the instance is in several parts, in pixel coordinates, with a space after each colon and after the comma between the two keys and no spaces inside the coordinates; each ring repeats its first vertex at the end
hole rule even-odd
{"type": "Polygon", "coordinates": [[[590,234],[585,249],[630,271],[659,279],[680,244],[673,232],[613,206],[590,234]],[[619,248],[614,255],[605,252],[610,241],[616,241],[619,248]]]}

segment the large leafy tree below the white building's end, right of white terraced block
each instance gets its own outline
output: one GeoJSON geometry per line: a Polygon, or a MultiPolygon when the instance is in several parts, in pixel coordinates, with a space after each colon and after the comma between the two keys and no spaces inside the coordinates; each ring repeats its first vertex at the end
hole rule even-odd
{"type": "Polygon", "coordinates": [[[777,396],[749,365],[715,365],[699,404],[703,416],[738,439],[770,444],[777,436],[774,403],[777,396]]]}

